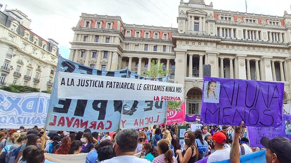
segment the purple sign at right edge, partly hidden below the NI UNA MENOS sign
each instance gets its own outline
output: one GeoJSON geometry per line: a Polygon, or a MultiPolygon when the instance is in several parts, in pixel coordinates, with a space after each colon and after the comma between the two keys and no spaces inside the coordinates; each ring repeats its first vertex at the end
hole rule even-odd
{"type": "Polygon", "coordinates": [[[247,127],[250,146],[251,147],[263,147],[260,144],[260,139],[262,137],[268,137],[273,139],[278,136],[288,137],[291,139],[291,134],[288,131],[289,127],[288,124],[291,122],[291,115],[284,114],[283,115],[283,123],[281,126],[273,128],[273,127],[247,127]]]}

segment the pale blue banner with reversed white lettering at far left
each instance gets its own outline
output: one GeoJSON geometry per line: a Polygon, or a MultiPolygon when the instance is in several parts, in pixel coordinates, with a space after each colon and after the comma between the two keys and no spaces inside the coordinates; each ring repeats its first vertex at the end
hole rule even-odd
{"type": "Polygon", "coordinates": [[[0,126],[44,127],[49,108],[48,93],[13,93],[0,90],[0,126]]]}

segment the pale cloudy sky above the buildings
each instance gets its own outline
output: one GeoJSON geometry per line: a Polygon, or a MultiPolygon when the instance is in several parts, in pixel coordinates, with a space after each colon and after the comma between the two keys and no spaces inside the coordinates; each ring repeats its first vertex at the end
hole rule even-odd
{"type": "MultiPolygon", "coordinates": [[[[188,2],[188,0],[184,0],[188,2]]],[[[245,12],[245,0],[205,0],[214,9],[245,12]]],[[[18,9],[32,19],[30,29],[59,43],[60,53],[69,57],[72,27],[81,13],[119,15],[124,23],[177,28],[180,0],[0,0],[7,9],[18,9]]],[[[290,0],[247,0],[248,13],[283,16],[291,13],[290,0]]]]}

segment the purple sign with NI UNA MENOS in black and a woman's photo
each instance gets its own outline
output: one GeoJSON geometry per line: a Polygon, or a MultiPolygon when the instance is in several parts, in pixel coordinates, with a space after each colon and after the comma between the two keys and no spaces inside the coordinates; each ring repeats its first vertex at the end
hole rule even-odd
{"type": "Polygon", "coordinates": [[[201,123],[277,127],[284,83],[204,77],[201,123]]]}

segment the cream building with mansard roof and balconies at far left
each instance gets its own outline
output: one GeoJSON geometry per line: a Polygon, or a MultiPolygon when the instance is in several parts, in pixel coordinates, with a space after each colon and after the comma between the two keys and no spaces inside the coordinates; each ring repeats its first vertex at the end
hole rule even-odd
{"type": "Polygon", "coordinates": [[[32,32],[30,24],[28,16],[17,9],[0,12],[0,86],[51,90],[58,43],[32,32]]]}

